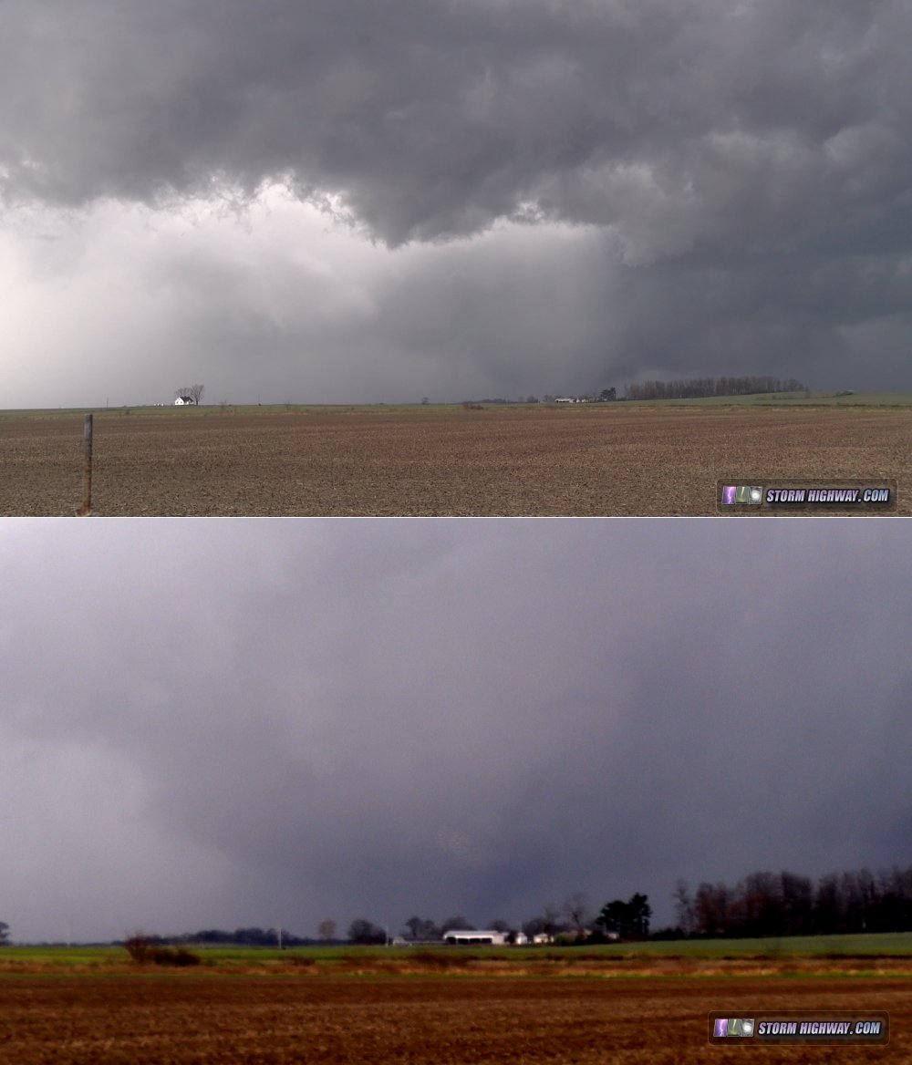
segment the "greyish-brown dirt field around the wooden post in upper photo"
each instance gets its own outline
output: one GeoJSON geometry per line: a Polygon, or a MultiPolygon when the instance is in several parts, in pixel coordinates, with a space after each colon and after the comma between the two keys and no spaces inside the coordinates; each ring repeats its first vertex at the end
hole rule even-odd
{"type": "MultiPolygon", "coordinates": [[[[74,513],[82,425],[0,419],[0,513],[74,513]]],[[[910,408],[102,411],[94,449],[101,515],[696,515],[719,478],[865,476],[912,513],[910,408]]]]}

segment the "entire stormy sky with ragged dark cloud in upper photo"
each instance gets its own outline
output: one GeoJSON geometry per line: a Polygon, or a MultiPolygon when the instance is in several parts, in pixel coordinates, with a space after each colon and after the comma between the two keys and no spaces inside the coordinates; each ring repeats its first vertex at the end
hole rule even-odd
{"type": "Polygon", "coordinates": [[[912,388],[906,0],[0,15],[0,406],[912,388]]]}

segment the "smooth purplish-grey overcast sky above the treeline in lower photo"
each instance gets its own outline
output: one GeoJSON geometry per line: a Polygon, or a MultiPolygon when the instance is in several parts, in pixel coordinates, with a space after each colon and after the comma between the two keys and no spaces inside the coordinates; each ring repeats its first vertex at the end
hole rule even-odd
{"type": "Polygon", "coordinates": [[[908,866],[911,579],[899,522],[10,519],[0,919],[662,923],[908,866]]]}

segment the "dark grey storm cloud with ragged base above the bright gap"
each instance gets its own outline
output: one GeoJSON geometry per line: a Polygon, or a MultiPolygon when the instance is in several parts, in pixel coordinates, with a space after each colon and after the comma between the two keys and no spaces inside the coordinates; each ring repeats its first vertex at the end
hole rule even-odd
{"type": "Polygon", "coordinates": [[[499,217],[694,247],[880,248],[906,202],[908,5],[4,5],[10,195],[338,194],[396,244],[499,217]]]}

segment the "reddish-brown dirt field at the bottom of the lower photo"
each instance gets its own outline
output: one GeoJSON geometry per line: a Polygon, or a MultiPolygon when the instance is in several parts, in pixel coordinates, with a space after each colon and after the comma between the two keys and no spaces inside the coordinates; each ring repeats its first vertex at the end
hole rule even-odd
{"type": "Polygon", "coordinates": [[[696,1065],[909,1062],[898,979],[5,977],[0,1060],[16,1065],[696,1065]],[[711,1047],[707,1014],[881,1010],[889,1047],[711,1047]]]}

